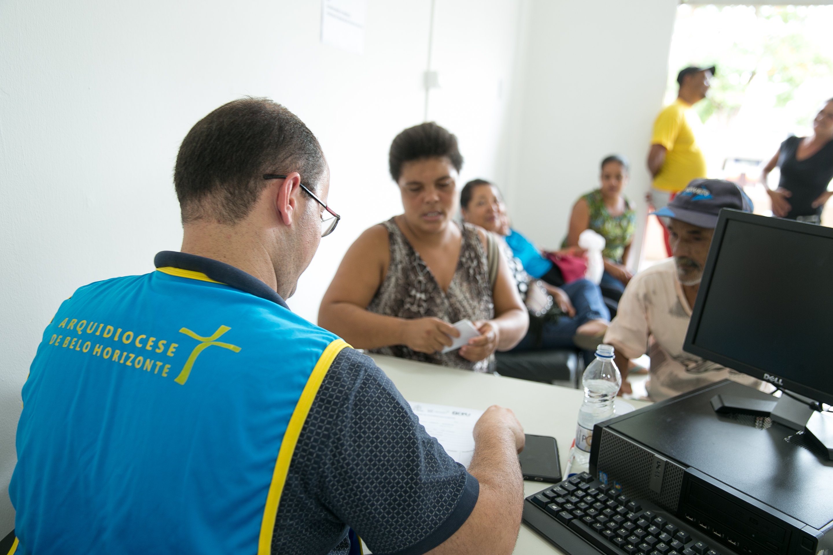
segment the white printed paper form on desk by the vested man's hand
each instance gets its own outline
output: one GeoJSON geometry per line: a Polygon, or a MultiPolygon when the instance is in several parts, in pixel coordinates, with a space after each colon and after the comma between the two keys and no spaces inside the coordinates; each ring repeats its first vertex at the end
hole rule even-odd
{"type": "Polygon", "coordinates": [[[474,424],[483,411],[412,401],[408,404],[426,432],[440,442],[451,458],[468,468],[474,454],[474,424]]]}

